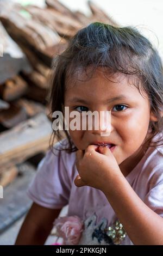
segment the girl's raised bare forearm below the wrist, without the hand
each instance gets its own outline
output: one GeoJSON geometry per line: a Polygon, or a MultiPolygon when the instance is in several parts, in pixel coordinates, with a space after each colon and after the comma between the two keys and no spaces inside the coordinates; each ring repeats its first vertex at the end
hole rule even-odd
{"type": "Polygon", "coordinates": [[[123,175],[112,176],[103,192],[134,245],[163,245],[163,218],[143,203],[123,175]]]}

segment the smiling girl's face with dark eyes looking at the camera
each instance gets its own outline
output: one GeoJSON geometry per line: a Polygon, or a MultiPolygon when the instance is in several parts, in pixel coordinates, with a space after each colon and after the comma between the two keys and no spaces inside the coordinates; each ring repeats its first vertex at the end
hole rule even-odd
{"type": "Polygon", "coordinates": [[[118,164],[129,157],[135,161],[134,156],[140,154],[147,136],[149,121],[153,120],[145,92],[142,96],[133,84],[128,83],[126,76],[113,75],[107,79],[100,69],[89,79],[83,73],[76,83],[73,79],[67,81],[65,106],[69,107],[70,112],[111,111],[109,136],[101,136],[101,130],[69,132],[78,149],[86,149],[97,142],[115,144],[112,154],[118,164]]]}

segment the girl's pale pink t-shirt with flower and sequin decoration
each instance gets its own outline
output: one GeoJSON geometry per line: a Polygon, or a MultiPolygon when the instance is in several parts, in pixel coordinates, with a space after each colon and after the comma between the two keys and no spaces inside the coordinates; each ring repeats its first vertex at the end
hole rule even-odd
{"type": "MultiPolygon", "coordinates": [[[[153,141],[159,136],[163,134],[155,136],[153,141]]],[[[67,139],[62,140],[65,147],[66,143],[67,139]]],[[[87,233],[83,233],[79,244],[108,245],[106,239],[104,241],[102,237],[95,235],[93,230],[96,228],[101,231],[102,227],[107,228],[114,224],[117,220],[115,212],[102,191],[89,186],[74,185],[78,174],[76,153],[68,154],[66,151],[56,150],[60,147],[60,142],[55,144],[54,151],[57,156],[48,151],[39,163],[36,176],[28,189],[28,196],[46,208],[61,209],[68,204],[68,216],[77,215],[85,221],[85,228],[88,229],[87,233]]],[[[163,146],[148,148],[126,179],[143,202],[163,217],[163,146]]],[[[126,236],[121,244],[133,243],[126,236]]]]}

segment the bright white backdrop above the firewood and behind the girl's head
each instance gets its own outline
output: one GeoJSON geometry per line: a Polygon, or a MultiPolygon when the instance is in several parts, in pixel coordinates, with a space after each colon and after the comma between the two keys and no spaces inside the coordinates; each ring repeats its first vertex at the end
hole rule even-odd
{"type": "MultiPolygon", "coordinates": [[[[4,1],[4,0],[3,0],[4,1]]],[[[12,0],[36,3],[43,6],[44,0],[12,0]]],[[[153,42],[163,58],[163,1],[162,0],[92,0],[103,8],[121,26],[136,26],[153,42]]],[[[60,0],[72,10],[89,14],[87,0],[60,0]]]]}

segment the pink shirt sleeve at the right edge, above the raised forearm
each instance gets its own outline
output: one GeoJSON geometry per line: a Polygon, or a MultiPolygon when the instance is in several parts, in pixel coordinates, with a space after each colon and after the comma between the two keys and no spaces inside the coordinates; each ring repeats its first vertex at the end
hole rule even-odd
{"type": "Polygon", "coordinates": [[[163,217],[163,165],[153,175],[149,184],[149,192],[146,195],[145,203],[156,214],[163,217]]]}

